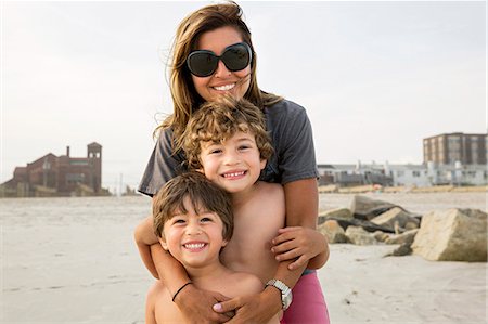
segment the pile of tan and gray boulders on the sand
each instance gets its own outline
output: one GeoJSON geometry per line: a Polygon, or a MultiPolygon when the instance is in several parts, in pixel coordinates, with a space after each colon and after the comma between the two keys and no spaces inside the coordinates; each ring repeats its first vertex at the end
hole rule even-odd
{"type": "Polygon", "coordinates": [[[487,213],[450,208],[413,213],[402,206],[356,195],[349,208],[323,210],[319,231],[331,244],[399,245],[386,256],[433,261],[487,261],[487,213]]]}

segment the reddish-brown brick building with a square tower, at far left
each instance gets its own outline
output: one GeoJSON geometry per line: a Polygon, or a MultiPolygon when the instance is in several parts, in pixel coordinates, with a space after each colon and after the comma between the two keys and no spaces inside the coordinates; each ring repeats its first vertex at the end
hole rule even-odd
{"type": "Polygon", "coordinates": [[[26,167],[16,167],[13,178],[0,185],[0,196],[102,195],[102,145],[87,145],[87,157],[49,153],[26,167]]]}

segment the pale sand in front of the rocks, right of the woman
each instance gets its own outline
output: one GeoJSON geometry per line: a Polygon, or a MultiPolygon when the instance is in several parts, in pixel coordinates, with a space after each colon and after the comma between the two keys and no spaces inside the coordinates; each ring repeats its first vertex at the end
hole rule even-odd
{"type": "Polygon", "coordinates": [[[486,323],[486,263],[384,258],[394,247],[331,245],[331,323],[486,323]]]}

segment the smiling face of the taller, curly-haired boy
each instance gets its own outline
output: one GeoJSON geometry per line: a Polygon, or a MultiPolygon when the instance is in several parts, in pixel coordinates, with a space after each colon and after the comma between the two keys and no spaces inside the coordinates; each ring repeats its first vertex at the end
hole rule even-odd
{"type": "Polygon", "coordinates": [[[229,193],[241,193],[258,180],[266,160],[260,158],[255,135],[237,131],[226,141],[202,142],[205,177],[229,193]]]}

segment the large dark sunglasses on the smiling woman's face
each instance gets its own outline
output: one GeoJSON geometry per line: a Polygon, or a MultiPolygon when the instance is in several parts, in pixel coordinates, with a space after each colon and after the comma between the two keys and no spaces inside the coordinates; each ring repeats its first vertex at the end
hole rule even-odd
{"type": "Polygon", "coordinates": [[[236,72],[249,65],[252,57],[251,47],[245,42],[239,42],[227,47],[220,56],[207,50],[193,51],[188,55],[187,66],[192,75],[208,77],[217,70],[219,61],[222,61],[229,70],[236,72]]]}

